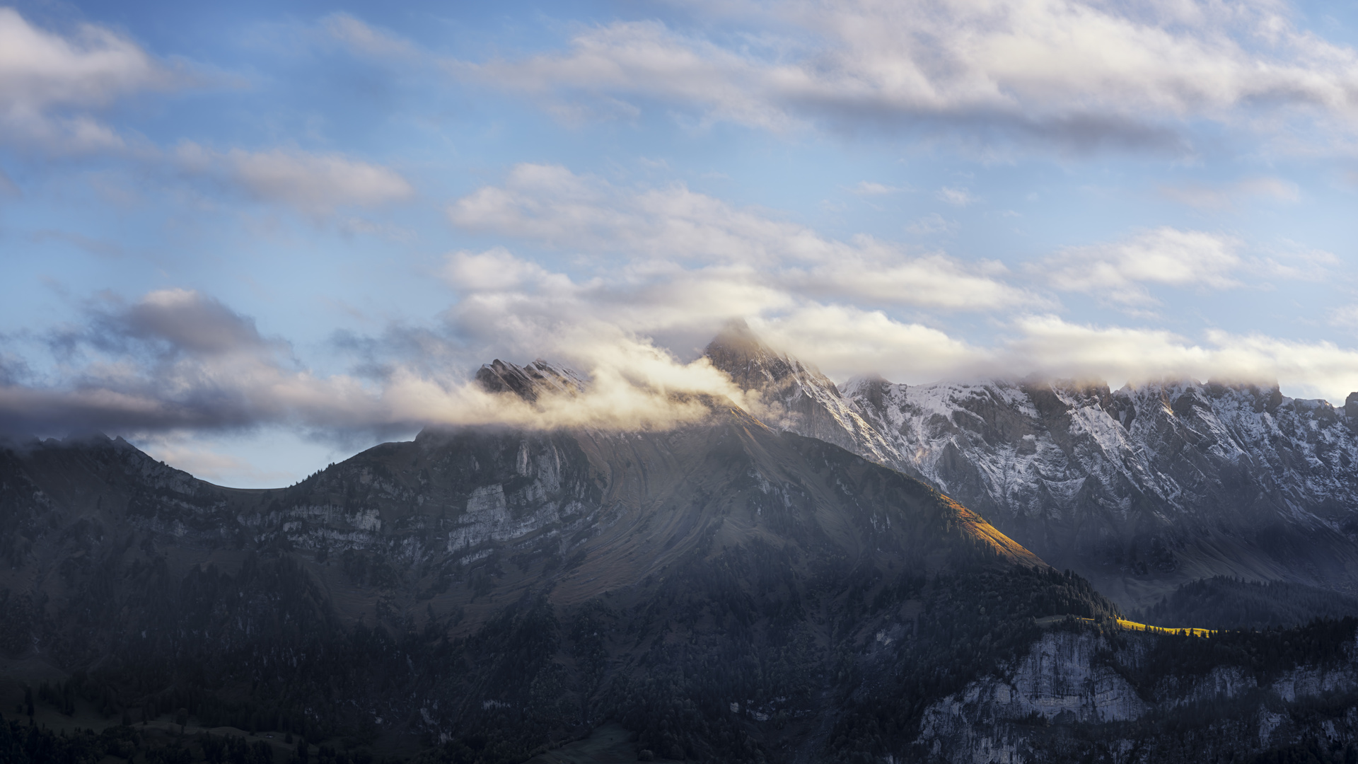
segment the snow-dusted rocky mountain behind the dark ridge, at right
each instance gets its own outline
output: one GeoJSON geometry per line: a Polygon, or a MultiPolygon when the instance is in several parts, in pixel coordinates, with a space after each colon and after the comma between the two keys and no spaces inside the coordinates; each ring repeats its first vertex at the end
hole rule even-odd
{"type": "Polygon", "coordinates": [[[1217,575],[1358,586],[1358,393],[1051,381],[842,387],[743,325],[706,351],[763,421],[928,481],[1128,608],[1217,575]]]}

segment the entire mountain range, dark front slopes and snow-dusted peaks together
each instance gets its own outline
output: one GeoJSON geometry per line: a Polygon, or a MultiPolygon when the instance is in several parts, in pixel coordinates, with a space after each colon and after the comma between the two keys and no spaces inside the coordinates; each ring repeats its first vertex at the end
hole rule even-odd
{"type": "Polygon", "coordinates": [[[1119,620],[1157,593],[1183,614],[1176,586],[1222,572],[1289,582],[1294,620],[1344,614],[1347,412],[1211,385],[838,387],[741,326],[708,358],[760,405],[426,428],[278,489],[117,438],[10,442],[0,760],[1358,757],[1358,620],[1119,620]]]}

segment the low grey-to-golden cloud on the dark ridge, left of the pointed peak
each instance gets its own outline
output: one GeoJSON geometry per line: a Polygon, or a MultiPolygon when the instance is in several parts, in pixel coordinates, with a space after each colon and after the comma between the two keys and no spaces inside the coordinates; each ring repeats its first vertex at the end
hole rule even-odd
{"type": "MultiPolygon", "coordinates": [[[[588,375],[579,394],[530,404],[485,392],[456,370],[392,364],[380,383],[319,377],[200,292],[166,290],[94,310],[88,326],[54,338],[67,374],[54,383],[0,377],[0,431],[65,434],[99,428],[162,434],[287,426],[331,435],[392,432],[426,424],[520,427],[674,427],[709,413],[702,396],[743,393],[706,360],[679,363],[646,338],[583,319],[545,348],[588,375]]],[[[11,364],[5,364],[8,368],[11,364]]],[[[219,465],[224,466],[224,465],[219,465]]],[[[228,465],[227,465],[228,466],[228,465]]]]}

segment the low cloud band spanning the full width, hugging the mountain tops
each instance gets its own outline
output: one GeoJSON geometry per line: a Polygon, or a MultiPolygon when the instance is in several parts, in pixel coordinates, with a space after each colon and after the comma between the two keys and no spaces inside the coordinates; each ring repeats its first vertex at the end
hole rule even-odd
{"type": "MultiPolygon", "coordinates": [[[[421,345],[428,351],[430,343],[443,343],[437,364],[397,358],[359,364],[363,372],[322,377],[293,358],[285,341],[265,337],[250,318],[200,292],[164,290],[130,305],[105,303],[84,328],[49,337],[53,352],[65,359],[62,377],[41,379],[20,359],[0,356],[0,430],[39,435],[261,426],[318,434],[382,434],[428,424],[656,430],[699,421],[713,404],[760,413],[758,402],[706,359],[680,360],[653,340],[589,314],[574,322],[520,315],[520,324],[507,324],[519,332],[517,343],[542,343],[547,355],[579,370],[587,379],[580,390],[532,402],[489,393],[473,379],[478,364],[467,355],[485,352],[492,343],[469,341],[475,337],[466,332],[460,344],[447,337],[459,324],[474,329],[473,319],[482,329],[505,321],[497,306],[504,303],[470,300],[451,311],[444,338],[432,333],[421,345]]],[[[690,330],[716,329],[689,321],[690,330]]],[[[1192,343],[1165,330],[1031,315],[1010,322],[1009,334],[994,345],[978,347],[880,311],[835,306],[797,306],[751,324],[770,345],[820,364],[837,379],[866,371],[906,382],[1027,374],[1133,383],[1167,377],[1277,379],[1291,392],[1335,402],[1358,386],[1358,352],[1264,336],[1213,332],[1192,343]]]]}

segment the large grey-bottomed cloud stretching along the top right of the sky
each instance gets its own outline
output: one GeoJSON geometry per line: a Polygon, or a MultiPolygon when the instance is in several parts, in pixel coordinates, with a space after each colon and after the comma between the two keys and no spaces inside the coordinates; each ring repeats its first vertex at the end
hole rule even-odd
{"type": "Polygon", "coordinates": [[[1074,151],[1183,151],[1179,133],[1200,120],[1351,136],[1358,118],[1358,54],[1296,29],[1274,3],[827,0],[767,5],[754,23],[724,46],[617,22],[561,52],[448,69],[543,103],[633,98],[771,131],[923,131],[1074,151]]]}

